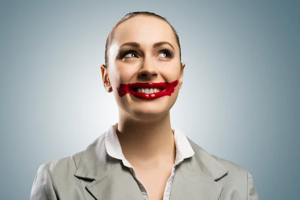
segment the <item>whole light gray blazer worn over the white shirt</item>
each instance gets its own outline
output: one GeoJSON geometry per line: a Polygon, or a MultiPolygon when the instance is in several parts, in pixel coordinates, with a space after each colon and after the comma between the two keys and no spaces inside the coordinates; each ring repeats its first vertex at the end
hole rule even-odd
{"type": "MultiPolygon", "coordinates": [[[[106,153],[104,138],[101,134],[84,151],[40,165],[30,199],[143,200],[129,169],[106,153]]],[[[170,200],[258,199],[247,170],[187,139],[195,154],[176,166],[170,200]]]]}

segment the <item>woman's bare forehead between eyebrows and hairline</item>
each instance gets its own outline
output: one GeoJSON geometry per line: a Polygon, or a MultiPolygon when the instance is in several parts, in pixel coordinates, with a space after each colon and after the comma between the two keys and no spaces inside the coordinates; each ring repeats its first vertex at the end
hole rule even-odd
{"type": "Polygon", "coordinates": [[[120,23],[115,29],[115,42],[138,42],[152,45],[158,41],[168,41],[176,46],[176,38],[171,26],[153,16],[134,16],[120,23]]]}

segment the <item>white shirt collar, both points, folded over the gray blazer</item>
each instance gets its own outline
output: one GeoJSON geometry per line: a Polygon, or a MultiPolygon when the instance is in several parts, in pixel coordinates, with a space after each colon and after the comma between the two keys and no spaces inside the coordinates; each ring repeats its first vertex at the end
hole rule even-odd
{"type": "MultiPolygon", "coordinates": [[[[105,133],[105,146],[108,155],[111,157],[122,160],[123,164],[127,167],[131,167],[131,164],[126,160],[122,152],[118,136],[116,134],[117,123],[110,126],[108,131],[105,133]]],[[[190,143],[188,142],[184,132],[178,128],[172,128],[174,133],[174,141],[176,145],[176,158],[175,165],[179,164],[184,158],[191,157],[194,154],[190,143]]]]}

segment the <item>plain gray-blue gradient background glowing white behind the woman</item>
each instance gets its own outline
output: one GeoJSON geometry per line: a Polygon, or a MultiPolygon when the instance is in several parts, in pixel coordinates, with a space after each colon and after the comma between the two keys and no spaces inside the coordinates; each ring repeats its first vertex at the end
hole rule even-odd
{"type": "Polygon", "coordinates": [[[299,1],[1,1],[0,199],[29,199],[40,164],[117,122],[100,64],[112,26],[152,11],[186,63],[171,123],[254,178],[260,199],[300,196],[299,1]]]}

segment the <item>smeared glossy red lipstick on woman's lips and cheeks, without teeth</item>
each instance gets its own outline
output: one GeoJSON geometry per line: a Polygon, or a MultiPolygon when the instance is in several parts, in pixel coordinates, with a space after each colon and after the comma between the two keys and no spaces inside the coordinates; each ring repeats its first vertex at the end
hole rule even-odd
{"type": "Polygon", "coordinates": [[[174,92],[177,84],[178,80],[175,80],[173,82],[135,82],[128,84],[121,83],[118,87],[116,87],[116,90],[120,97],[129,93],[130,95],[132,94],[137,98],[155,99],[162,96],[170,96],[171,93],[174,92]],[[147,94],[143,92],[138,92],[138,88],[159,88],[160,91],[147,94]]]}

